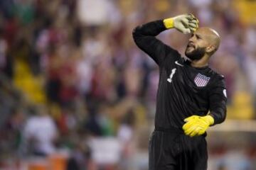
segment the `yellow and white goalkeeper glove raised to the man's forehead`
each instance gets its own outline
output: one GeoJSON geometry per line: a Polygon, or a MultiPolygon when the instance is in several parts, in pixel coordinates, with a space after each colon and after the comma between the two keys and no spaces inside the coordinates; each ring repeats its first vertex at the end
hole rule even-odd
{"type": "Polygon", "coordinates": [[[193,14],[183,14],[174,18],[164,19],[164,26],[167,29],[176,28],[176,30],[185,34],[196,31],[198,23],[198,19],[193,14]]]}

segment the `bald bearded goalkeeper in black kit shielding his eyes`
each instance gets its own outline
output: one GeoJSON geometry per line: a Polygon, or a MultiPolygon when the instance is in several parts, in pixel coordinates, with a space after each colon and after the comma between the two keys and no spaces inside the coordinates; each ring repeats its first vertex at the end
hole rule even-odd
{"type": "Polygon", "coordinates": [[[211,28],[198,28],[198,19],[184,14],[137,26],[133,38],[159,65],[149,170],[207,169],[206,130],[222,123],[226,116],[224,78],[208,67],[220,36],[211,28]],[[155,38],[171,28],[191,34],[186,57],[155,38]]]}

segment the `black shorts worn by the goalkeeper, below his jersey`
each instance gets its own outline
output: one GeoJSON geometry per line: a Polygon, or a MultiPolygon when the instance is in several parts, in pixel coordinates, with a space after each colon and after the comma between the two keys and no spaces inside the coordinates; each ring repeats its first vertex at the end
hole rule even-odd
{"type": "Polygon", "coordinates": [[[205,136],[189,137],[179,130],[154,130],[149,139],[149,170],[206,170],[205,136]]]}

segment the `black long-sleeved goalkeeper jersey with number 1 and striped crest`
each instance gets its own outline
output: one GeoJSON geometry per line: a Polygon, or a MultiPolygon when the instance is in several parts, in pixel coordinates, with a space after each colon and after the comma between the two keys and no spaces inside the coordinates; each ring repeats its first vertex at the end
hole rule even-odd
{"type": "Polygon", "coordinates": [[[181,129],[185,118],[208,111],[215,124],[222,123],[227,101],[223,76],[209,67],[191,67],[178,51],[155,38],[164,30],[163,21],[153,21],[133,31],[137,46],[159,65],[155,127],[181,129]]]}

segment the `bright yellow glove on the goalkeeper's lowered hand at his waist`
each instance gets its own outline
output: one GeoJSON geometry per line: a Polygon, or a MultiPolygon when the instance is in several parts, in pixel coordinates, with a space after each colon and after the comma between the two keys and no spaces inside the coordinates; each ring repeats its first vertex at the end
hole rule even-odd
{"type": "Polygon", "coordinates": [[[184,120],[183,130],[186,135],[193,137],[196,135],[203,135],[210,125],[213,125],[214,119],[210,115],[199,116],[192,115],[184,120]]]}

